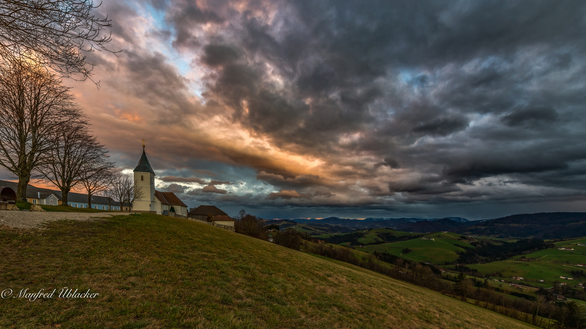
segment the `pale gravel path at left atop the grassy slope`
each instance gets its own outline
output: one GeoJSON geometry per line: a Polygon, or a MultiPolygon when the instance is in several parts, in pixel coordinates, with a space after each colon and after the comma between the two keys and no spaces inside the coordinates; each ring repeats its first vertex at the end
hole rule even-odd
{"type": "Polygon", "coordinates": [[[93,221],[96,217],[110,217],[120,213],[57,213],[50,211],[0,211],[0,225],[16,228],[43,229],[43,222],[58,220],[93,221]]]}

